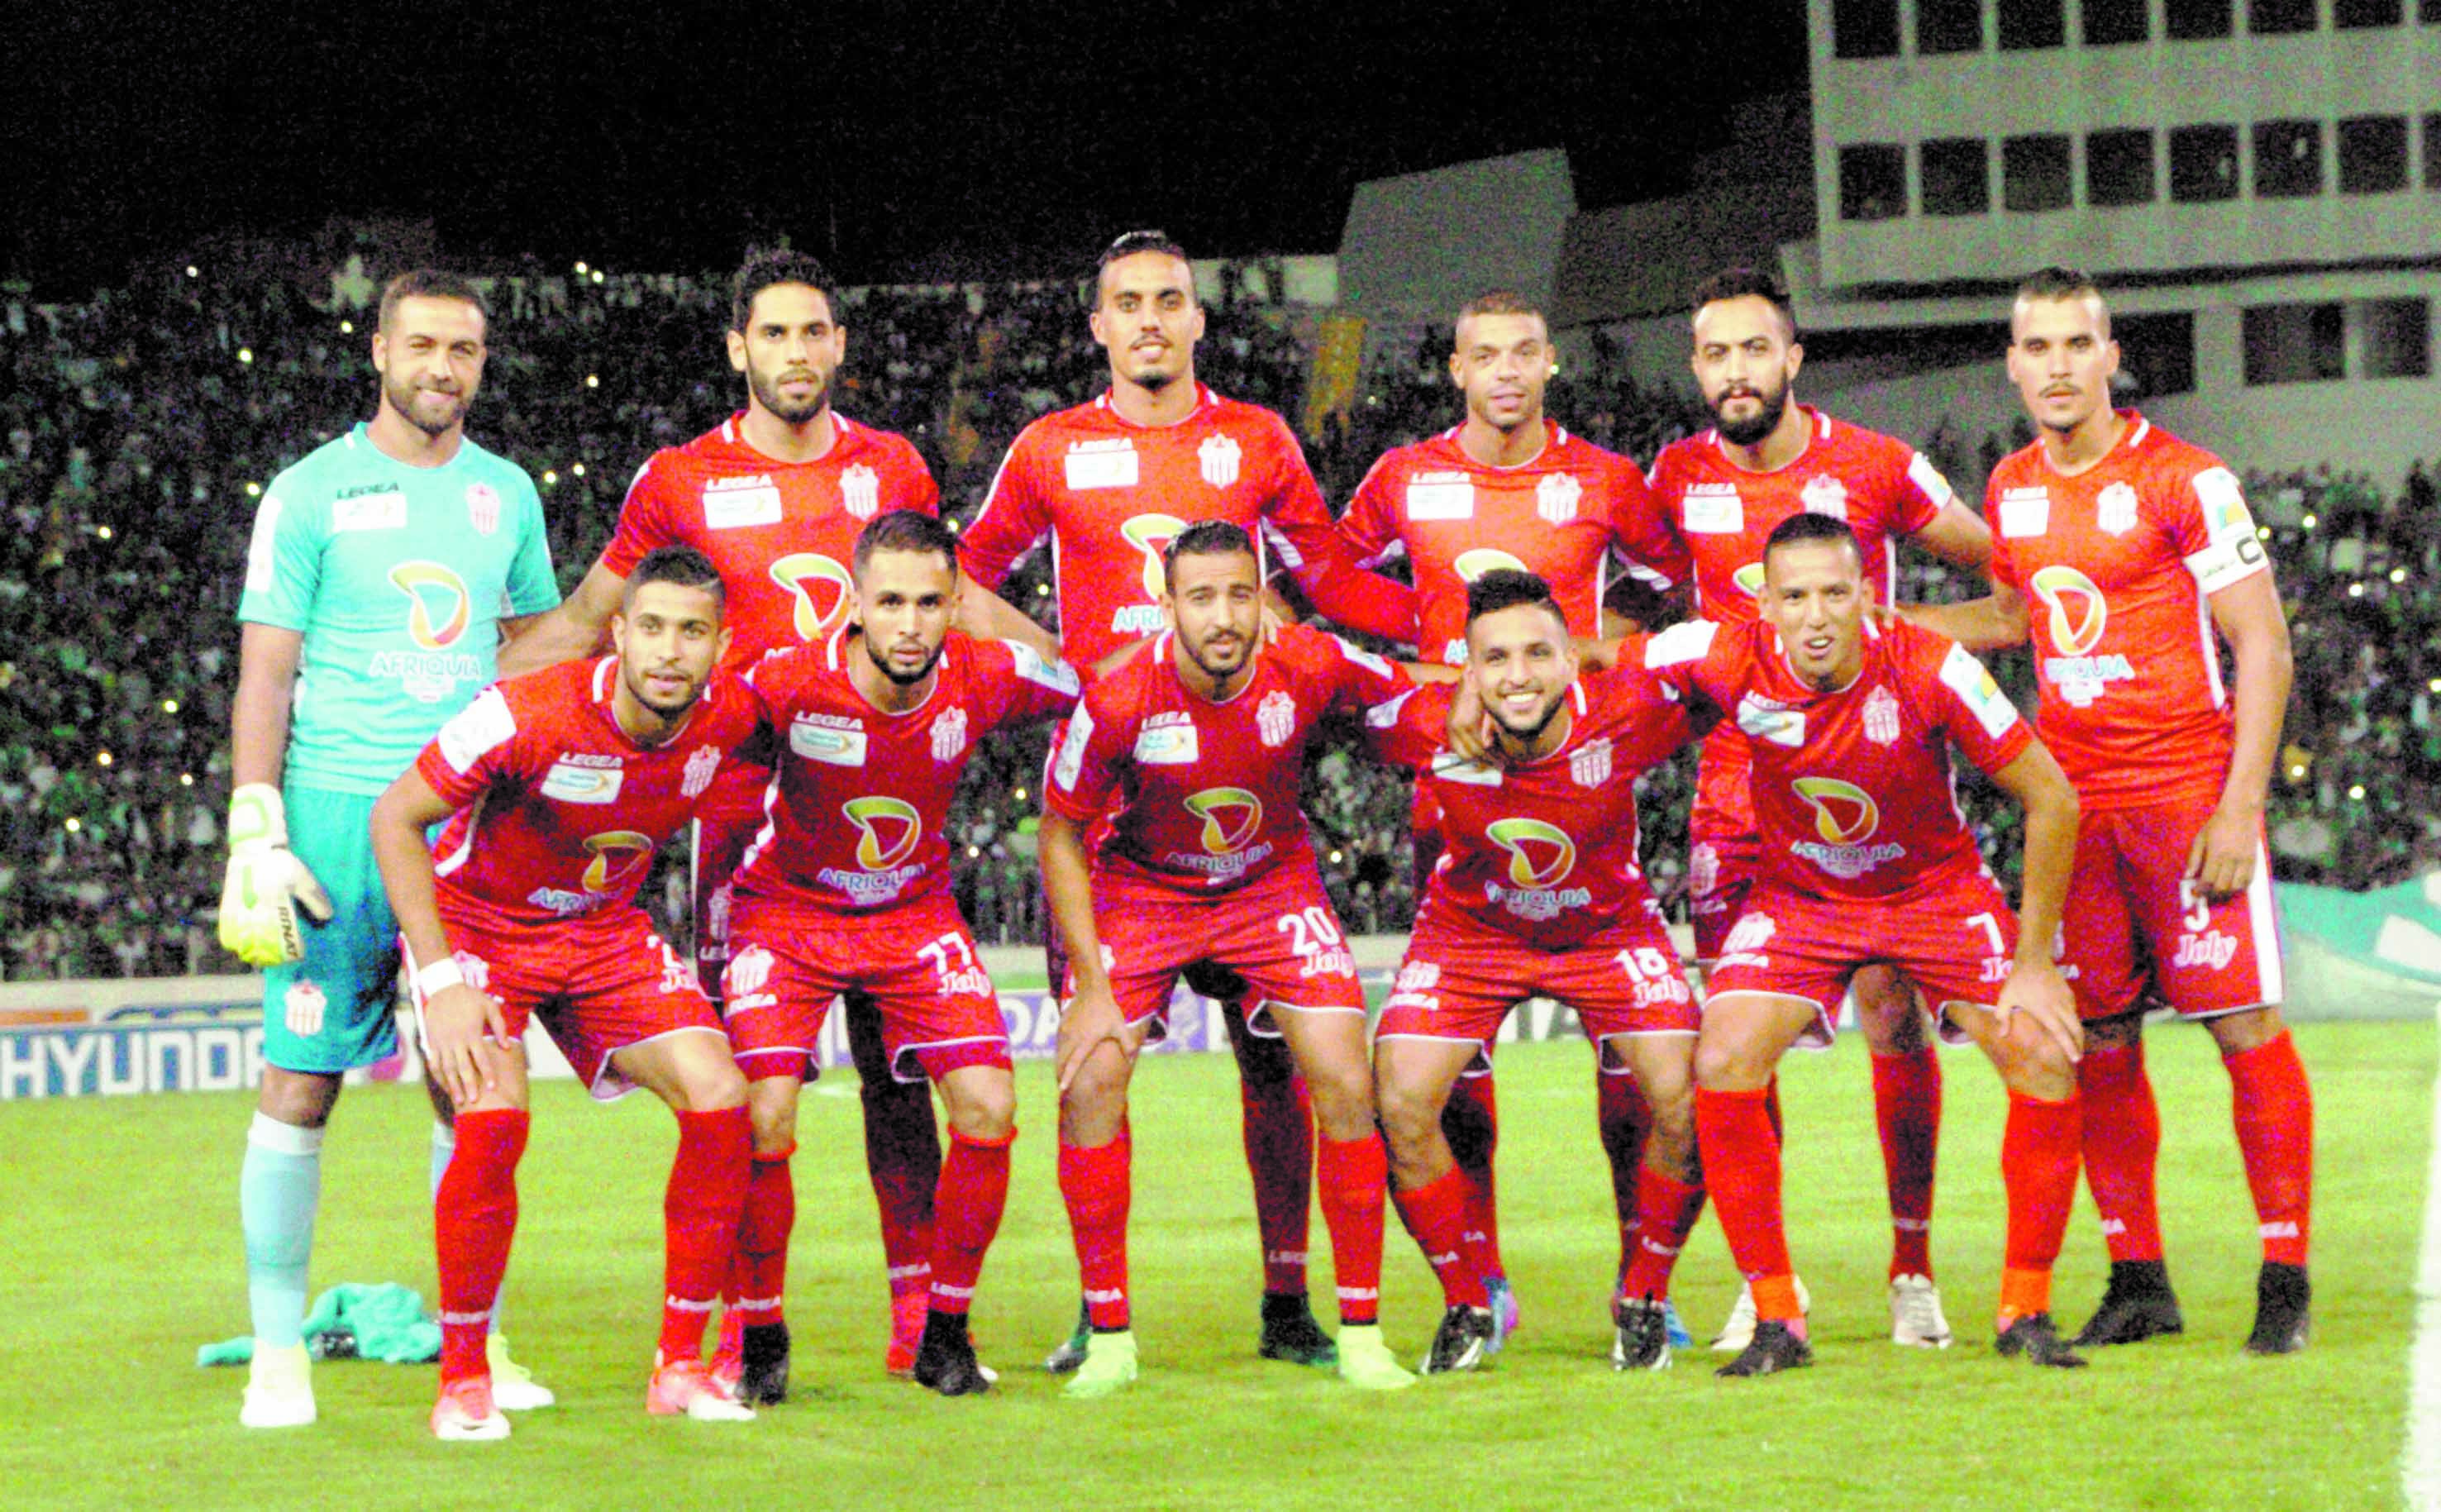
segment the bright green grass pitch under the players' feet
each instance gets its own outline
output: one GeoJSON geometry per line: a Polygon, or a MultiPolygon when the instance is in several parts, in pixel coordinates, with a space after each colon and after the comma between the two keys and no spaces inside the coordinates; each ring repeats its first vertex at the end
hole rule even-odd
{"type": "MultiPolygon", "coordinates": [[[[432,1370],[330,1363],[322,1422],[237,1429],[237,1370],[198,1370],[244,1331],[237,1155],[247,1097],[0,1107],[7,1150],[10,1507],[2390,1507],[2431,1136],[2434,1031],[2299,1031],[2319,1102],[2314,1346],[2238,1356],[2253,1212],[2207,1038],[2153,1031],[2163,1209],[2185,1339],[2102,1351],[2085,1373],[1992,1356],[2002,1094],[1953,1053],[1933,1253],[1960,1343],[1882,1341],[1887,1224],[1860,1045],[1784,1075],[1797,1265],[1819,1365],[1711,1378],[1733,1297],[1706,1216],[1677,1299],[1699,1348],[1614,1375],[1604,1295],[1616,1229],[1582,1045],[1501,1053],[1504,1248],[1526,1329],[1484,1375],[1391,1397],[1252,1353],[1252,1204],[1225,1058],[1138,1077],[1140,1385],[1062,1402],[1035,1361],[1067,1329],[1076,1270],[1052,1182],[1047,1070],[1020,1070],[1018,1172],[976,1336],[1001,1390],[942,1402],[881,1373],[881,1253],[852,1080],[808,1094],[788,1312],[796,1397],[762,1422],[647,1419],[659,1187],[674,1143],[647,1099],[539,1089],[510,1263],[508,1334],[561,1397],[508,1444],[425,1434],[432,1370]]],[[[422,1094],[344,1097],[325,1165],[315,1287],[403,1280],[432,1297],[422,1094]]],[[[1313,1224],[1316,1280],[1328,1282],[1313,1224]]],[[[1391,1219],[1386,1329],[1421,1353],[1435,1290],[1391,1219]]],[[[2080,1207],[2060,1312],[2082,1321],[2102,1243],[2080,1207]]],[[[1318,1285],[1328,1295],[1328,1285],[1318,1285]]]]}

